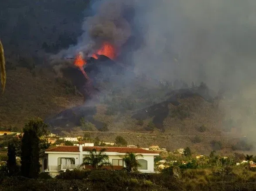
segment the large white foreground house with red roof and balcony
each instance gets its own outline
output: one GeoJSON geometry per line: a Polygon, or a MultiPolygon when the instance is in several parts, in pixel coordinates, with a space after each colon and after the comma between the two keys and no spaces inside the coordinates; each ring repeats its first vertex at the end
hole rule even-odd
{"type": "Polygon", "coordinates": [[[49,148],[45,151],[45,156],[42,158],[42,171],[49,172],[52,177],[55,177],[60,171],[73,170],[81,168],[83,158],[89,155],[89,151],[96,149],[100,151],[105,148],[105,154],[109,156],[109,162],[113,166],[104,166],[103,169],[122,169],[125,165],[123,163],[123,156],[126,153],[141,154],[143,157],[137,159],[140,163],[139,171],[144,173],[154,172],[154,156],[159,155],[157,151],[147,151],[142,148],[128,148],[128,147],[84,147],[79,146],[58,146],[49,148]]]}

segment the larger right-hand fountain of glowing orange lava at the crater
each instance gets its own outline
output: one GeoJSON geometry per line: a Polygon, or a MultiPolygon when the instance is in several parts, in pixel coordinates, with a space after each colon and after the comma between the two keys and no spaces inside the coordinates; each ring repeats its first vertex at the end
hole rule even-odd
{"type": "Polygon", "coordinates": [[[98,59],[98,55],[104,55],[113,60],[116,58],[116,49],[112,44],[104,42],[101,48],[97,50],[96,53],[92,54],[92,57],[98,59]]]}

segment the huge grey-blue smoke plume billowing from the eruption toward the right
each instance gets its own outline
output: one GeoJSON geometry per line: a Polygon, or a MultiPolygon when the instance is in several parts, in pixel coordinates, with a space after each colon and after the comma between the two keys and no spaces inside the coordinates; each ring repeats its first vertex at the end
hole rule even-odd
{"type": "Polygon", "coordinates": [[[137,74],[205,82],[216,94],[221,90],[226,118],[245,135],[256,135],[255,0],[106,0],[97,5],[96,15],[85,18],[79,43],[65,54],[91,53],[105,40],[122,52],[135,36],[132,42],[140,45],[129,56],[137,74]]]}

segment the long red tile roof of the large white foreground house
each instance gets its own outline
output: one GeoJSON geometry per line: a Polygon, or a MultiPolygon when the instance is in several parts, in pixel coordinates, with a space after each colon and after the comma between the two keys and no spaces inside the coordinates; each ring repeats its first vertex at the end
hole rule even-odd
{"type": "MultiPolygon", "coordinates": [[[[102,148],[106,149],[106,152],[119,152],[119,153],[159,153],[157,151],[148,151],[142,148],[130,148],[130,147],[83,147],[83,151],[91,151],[96,149],[100,151],[102,148]]],[[[49,148],[47,152],[79,152],[79,146],[58,146],[49,148]]]]}

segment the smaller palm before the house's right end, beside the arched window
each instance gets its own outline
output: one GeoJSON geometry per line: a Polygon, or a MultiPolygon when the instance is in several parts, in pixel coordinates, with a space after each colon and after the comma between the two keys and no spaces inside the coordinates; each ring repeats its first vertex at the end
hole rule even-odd
{"type": "Polygon", "coordinates": [[[137,171],[138,167],[140,167],[140,163],[138,163],[137,158],[143,158],[143,155],[134,153],[126,153],[126,155],[123,157],[123,162],[126,166],[126,170],[128,172],[131,171],[137,171]]]}

